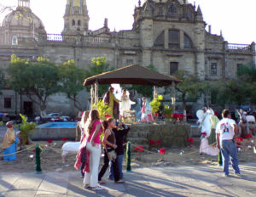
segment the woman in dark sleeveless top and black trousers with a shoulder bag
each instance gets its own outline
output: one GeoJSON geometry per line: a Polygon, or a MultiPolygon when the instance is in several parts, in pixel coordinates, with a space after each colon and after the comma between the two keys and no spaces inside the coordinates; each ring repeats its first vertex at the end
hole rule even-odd
{"type": "Polygon", "coordinates": [[[109,166],[109,160],[113,161],[113,177],[115,183],[124,183],[124,181],[120,180],[120,173],[119,173],[119,163],[118,163],[118,157],[115,153],[115,149],[118,148],[116,144],[116,138],[113,132],[113,128],[115,126],[115,121],[113,118],[108,119],[107,121],[103,122],[103,127],[105,129],[105,135],[103,138],[103,144],[105,145],[104,148],[104,164],[101,168],[101,171],[98,176],[98,180],[100,184],[103,184],[102,177],[104,176],[105,172],[108,169],[109,166]],[[110,153],[112,156],[110,156],[110,153]],[[114,156],[115,155],[115,156],[114,156]],[[113,157],[113,158],[111,158],[113,157]]]}

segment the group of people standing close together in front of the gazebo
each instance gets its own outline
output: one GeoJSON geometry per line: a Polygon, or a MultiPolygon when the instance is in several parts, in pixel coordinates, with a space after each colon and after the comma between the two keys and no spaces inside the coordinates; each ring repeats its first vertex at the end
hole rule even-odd
{"type": "Polygon", "coordinates": [[[102,190],[100,184],[105,184],[102,177],[110,162],[109,179],[114,183],[125,183],[122,172],[123,138],[130,128],[122,122],[116,122],[112,117],[101,122],[97,110],[84,111],[80,122],[82,131],[79,153],[75,168],[81,166],[81,177],[84,177],[84,189],[102,190]],[[104,137],[101,139],[102,132],[104,137]],[[104,161],[99,172],[100,159],[104,146],[104,161]]]}

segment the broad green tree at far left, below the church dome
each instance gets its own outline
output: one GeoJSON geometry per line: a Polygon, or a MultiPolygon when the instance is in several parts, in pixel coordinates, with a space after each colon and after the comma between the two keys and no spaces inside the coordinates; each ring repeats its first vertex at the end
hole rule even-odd
{"type": "Polygon", "coordinates": [[[36,62],[30,62],[12,55],[7,71],[10,87],[25,93],[41,111],[46,109],[47,98],[59,92],[57,66],[49,59],[39,57],[36,62]]]}

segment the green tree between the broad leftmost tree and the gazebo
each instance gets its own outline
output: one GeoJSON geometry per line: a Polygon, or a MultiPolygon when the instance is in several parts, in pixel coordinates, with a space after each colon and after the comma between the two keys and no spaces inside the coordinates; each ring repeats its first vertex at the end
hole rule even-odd
{"type": "Polygon", "coordinates": [[[86,71],[77,68],[74,60],[59,65],[58,75],[60,78],[60,92],[65,93],[67,98],[73,101],[73,105],[78,110],[84,110],[83,104],[79,103],[78,95],[84,90],[83,82],[86,71]]]}

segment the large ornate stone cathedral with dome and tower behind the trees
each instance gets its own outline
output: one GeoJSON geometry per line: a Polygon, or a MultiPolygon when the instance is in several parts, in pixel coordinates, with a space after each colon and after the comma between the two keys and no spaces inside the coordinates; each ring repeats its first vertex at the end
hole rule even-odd
{"type": "MultiPolygon", "coordinates": [[[[200,6],[195,8],[186,0],[138,1],[132,29],[119,32],[109,30],[107,19],[101,29],[91,31],[86,0],[67,0],[61,35],[47,34],[29,4],[30,0],[18,0],[18,7],[3,20],[0,27],[2,67],[9,65],[12,53],[29,59],[44,56],[56,64],[74,59],[77,66],[84,69],[92,58],[105,56],[115,68],[154,65],[167,75],[187,70],[203,80],[220,80],[236,77],[237,67],[255,58],[254,42],[228,43],[222,35],[213,35],[211,26],[206,30],[200,6]],[[23,18],[17,17],[20,12],[23,18]]],[[[0,109],[19,112],[20,108],[25,109],[25,102],[30,102],[27,99],[6,90],[0,96],[0,109]],[[10,105],[11,108],[5,108],[10,105]]],[[[33,110],[37,109],[31,105],[33,110]]],[[[61,94],[49,99],[48,112],[73,113],[71,109],[71,102],[61,94]]]]}

